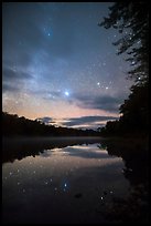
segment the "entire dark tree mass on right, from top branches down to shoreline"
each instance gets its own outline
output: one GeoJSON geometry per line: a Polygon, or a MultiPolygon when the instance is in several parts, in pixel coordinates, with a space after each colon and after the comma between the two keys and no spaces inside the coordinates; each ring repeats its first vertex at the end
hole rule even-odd
{"type": "Polygon", "coordinates": [[[99,23],[106,29],[115,28],[121,38],[114,44],[118,54],[126,53],[132,69],[129,78],[134,79],[128,100],[120,106],[118,122],[108,122],[103,135],[148,131],[149,122],[149,7],[147,2],[116,2],[108,18],[99,23]]]}

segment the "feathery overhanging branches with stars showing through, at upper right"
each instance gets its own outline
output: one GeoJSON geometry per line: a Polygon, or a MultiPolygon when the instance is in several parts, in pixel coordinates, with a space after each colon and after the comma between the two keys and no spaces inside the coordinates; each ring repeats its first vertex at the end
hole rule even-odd
{"type": "Polygon", "coordinates": [[[109,8],[108,18],[99,23],[106,29],[115,28],[121,33],[117,45],[118,54],[127,53],[132,70],[128,73],[142,84],[149,79],[149,6],[145,1],[116,2],[109,8]]]}

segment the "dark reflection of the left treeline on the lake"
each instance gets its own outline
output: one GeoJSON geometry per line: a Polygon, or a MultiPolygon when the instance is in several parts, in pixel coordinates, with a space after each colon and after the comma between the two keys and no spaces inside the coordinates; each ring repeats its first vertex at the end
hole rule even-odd
{"type": "Polygon", "coordinates": [[[63,148],[66,146],[93,144],[100,141],[98,137],[22,137],[3,138],[2,141],[2,163],[22,160],[26,156],[39,155],[45,150],[63,148]]]}

